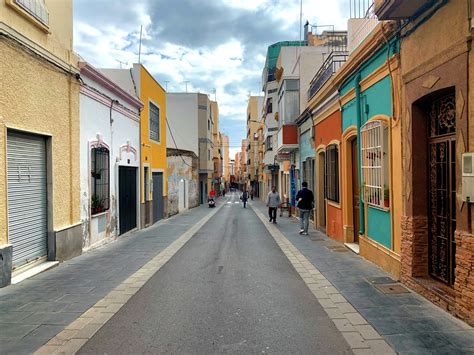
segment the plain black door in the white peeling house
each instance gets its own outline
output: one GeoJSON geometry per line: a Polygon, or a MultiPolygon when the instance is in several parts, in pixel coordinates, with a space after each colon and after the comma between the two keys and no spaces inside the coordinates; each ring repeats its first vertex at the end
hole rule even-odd
{"type": "Polygon", "coordinates": [[[137,227],[137,169],[119,167],[120,234],[137,227]]]}

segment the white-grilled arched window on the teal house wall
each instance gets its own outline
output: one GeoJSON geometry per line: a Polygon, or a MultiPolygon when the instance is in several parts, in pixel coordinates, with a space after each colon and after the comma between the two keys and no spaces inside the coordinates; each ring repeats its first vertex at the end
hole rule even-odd
{"type": "Polygon", "coordinates": [[[388,127],[383,121],[371,121],[360,133],[364,200],[376,207],[389,207],[388,127]]]}

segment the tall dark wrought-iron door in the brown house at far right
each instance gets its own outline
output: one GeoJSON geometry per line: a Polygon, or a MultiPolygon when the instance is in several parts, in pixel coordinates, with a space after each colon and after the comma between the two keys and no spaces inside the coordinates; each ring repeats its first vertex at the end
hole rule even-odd
{"type": "Polygon", "coordinates": [[[456,103],[454,93],[429,107],[429,272],[454,284],[456,244],[456,103]]]}

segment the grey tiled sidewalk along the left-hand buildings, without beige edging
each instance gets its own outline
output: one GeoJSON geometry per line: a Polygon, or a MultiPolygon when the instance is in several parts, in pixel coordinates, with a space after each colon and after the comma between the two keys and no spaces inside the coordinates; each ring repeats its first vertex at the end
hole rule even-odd
{"type": "Polygon", "coordinates": [[[0,354],[37,350],[211,211],[191,209],[0,289],[0,354]]]}

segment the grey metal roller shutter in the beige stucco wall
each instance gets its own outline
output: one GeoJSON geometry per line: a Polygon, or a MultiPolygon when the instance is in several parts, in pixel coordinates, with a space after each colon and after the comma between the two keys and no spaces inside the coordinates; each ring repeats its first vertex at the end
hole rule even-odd
{"type": "Polygon", "coordinates": [[[46,142],[8,132],[8,240],[13,266],[47,254],[46,142]]]}

